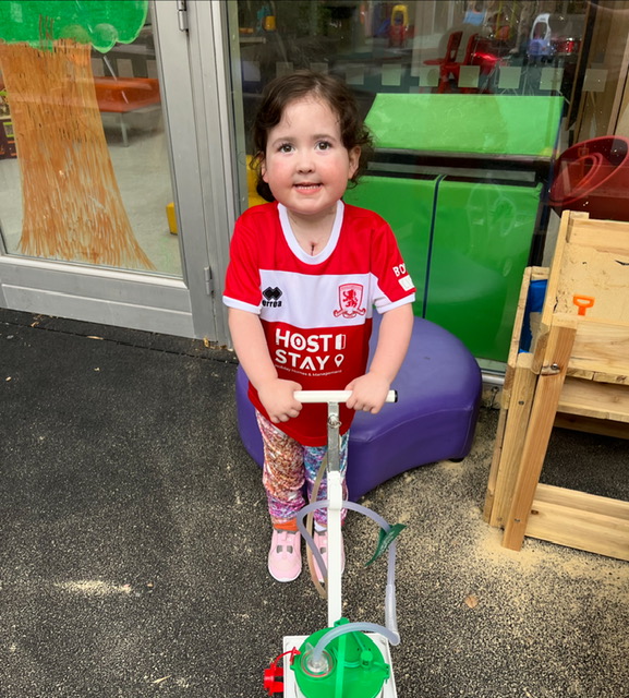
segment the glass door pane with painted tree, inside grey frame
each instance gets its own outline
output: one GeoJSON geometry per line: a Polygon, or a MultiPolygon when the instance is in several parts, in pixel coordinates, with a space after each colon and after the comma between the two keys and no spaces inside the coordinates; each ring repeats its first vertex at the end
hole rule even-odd
{"type": "Polygon", "coordinates": [[[181,276],[147,3],[87,4],[1,3],[4,252],[181,276]]]}

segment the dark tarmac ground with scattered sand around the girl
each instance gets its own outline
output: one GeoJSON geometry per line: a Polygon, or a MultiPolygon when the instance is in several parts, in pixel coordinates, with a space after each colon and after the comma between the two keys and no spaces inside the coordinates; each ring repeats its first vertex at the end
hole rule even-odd
{"type": "MultiPolygon", "coordinates": [[[[264,696],[282,637],[325,627],[307,574],[266,569],[237,359],[203,342],[0,309],[0,696],[264,696]]],[[[482,518],[498,411],[459,464],[361,502],[398,542],[407,698],[629,696],[629,564],[482,518]]],[[[627,444],[556,430],[547,482],[629,500],[627,444]]],[[[350,513],[343,610],[384,623],[377,530],[350,513]]]]}

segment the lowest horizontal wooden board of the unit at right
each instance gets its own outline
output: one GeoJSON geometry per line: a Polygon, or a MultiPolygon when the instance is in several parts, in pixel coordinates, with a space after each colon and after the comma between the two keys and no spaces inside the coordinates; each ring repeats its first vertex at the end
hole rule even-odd
{"type": "Polygon", "coordinates": [[[629,502],[540,484],[527,535],[629,561],[629,502]]]}

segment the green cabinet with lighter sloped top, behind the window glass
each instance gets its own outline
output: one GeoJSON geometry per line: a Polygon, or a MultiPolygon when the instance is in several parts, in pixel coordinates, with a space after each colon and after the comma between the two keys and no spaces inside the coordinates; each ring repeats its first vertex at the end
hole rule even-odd
{"type": "Polygon", "coordinates": [[[415,314],[477,359],[507,360],[561,108],[560,97],[386,94],[367,115],[377,149],[344,200],[388,220],[415,314]]]}

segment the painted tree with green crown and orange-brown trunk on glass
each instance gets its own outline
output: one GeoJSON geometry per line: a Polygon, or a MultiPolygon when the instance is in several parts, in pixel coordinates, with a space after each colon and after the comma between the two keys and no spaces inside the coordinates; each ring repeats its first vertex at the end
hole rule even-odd
{"type": "Polygon", "coordinates": [[[147,0],[2,0],[0,70],[23,196],[20,250],[154,268],[122,203],[98,110],[92,47],[130,44],[147,0]]]}

